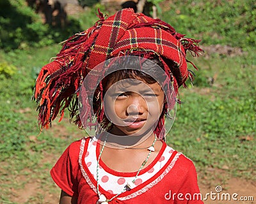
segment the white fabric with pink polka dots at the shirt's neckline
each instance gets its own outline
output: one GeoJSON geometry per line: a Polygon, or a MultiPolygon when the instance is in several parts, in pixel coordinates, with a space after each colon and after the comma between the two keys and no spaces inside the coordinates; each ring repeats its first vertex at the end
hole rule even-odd
{"type": "MultiPolygon", "coordinates": [[[[97,139],[93,138],[93,140],[90,140],[88,143],[88,149],[86,152],[86,155],[84,157],[84,161],[86,166],[88,167],[88,170],[92,173],[95,180],[97,180],[97,155],[96,155],[96,147],[97,147],[97,139]]],[[[109,193],[118,194],[122,191],[125,191],[125,186],[127,185],[127,182],[132,181],[135,179],[134,184],[136,186],[140,185],[141,183],[145,182],[146,180],[153,177],[157,171],[161,170],[163,168],[164,164],[167,163],[170,156],[172,156],[172,153],[174,150],[171,147],[166,146],[164,149],[163,154],[159,158],[158,161],[155,161],[155,164],[152,168],[148,168],[148,170],[136,177],[136,173],[118,173],[116,171],[109,171],[108,169],[102,168],[102,166],[99,165],[99,186],[101,186],[105,191],[108,191],[109,193]],[[122,174],[124,176],[120,177],[119,175],[122,174]]],[[[102,162],[102,161],[101,161],[102,162]]],[[[142,161],[141,161],[142,162],[142,161]]]]}

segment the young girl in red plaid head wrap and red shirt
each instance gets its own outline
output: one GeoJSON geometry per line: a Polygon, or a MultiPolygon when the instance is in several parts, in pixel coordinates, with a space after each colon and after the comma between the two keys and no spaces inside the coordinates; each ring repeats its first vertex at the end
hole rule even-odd
{"type": "Polygon", "coordinates": [[[192,161],[164,142],[190,77],[186,51],[201,52],[199,41],[130,9],[99,17],[36,80],[42,128],[68,107],[78,126],[96,129],[51,170],[60,203],[202,203],[192,161]]]}

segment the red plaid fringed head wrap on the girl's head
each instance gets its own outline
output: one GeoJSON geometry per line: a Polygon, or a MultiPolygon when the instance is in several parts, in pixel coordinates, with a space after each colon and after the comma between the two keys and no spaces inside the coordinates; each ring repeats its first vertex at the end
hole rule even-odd
{"type": "Polygon", "coordinates": [[[56,59],[40,71],[33,99],[39,103],[38,123],[42,128],[47,128],[58,113],[61,120],[68,106],[70,120],[76,117],[74,122],[82,126],[78,97],[83,79],[97,64],[120,54],[143,52],[146,58],[150,56],[148,53],[157,54],[164,71],[172,78],[175,92],[191,77],[186,52],[189,50],[194,56],[202,52],[199,40],[184,38],[165,22],[134,13],[132,9],[118,11],[107,19],[99,11],[99,18],[93,27],[68,38],[56,59]]]}

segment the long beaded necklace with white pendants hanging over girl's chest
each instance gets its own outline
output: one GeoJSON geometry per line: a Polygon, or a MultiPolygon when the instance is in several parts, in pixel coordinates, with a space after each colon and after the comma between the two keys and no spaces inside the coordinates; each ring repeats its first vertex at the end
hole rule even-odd
{"type": "Polygon", "coordinates": [[[123,191],[121,191],[121,193],[118,193],[116,194],[115,196],[113,196],[112,198],[110,199],[107,199],[106,196],[104,196],[104,194],[100,194],[99,193],[99,161],[100,161],[100,156],[104,150],[104,147],[106,146],[106,140],[108,138],[108,135],[106,136],[106,139],[104,140],[104,143],[103,143],[103,146],[102,146],[102,149],[100,150],[100,154],[99,154],[99,157],[98,157],[98,160],[97,160],[97,194],[99,195],[99,200],[97,201],[97,204],[101,203],[101,204],[108,204],[109,201],[113,200],[114,198],[116,198],[117,196],[119,196],[121,193],[124,193],[127,188],[128,189],[133,189],[134,187],[136,187],[136,185],[134,184],[135,180],[137,179],[141,169],[143,168],[143,166],[145,166],[145,164],[147,163],[148,161],[148,157],[150,156],[151,152],[154,152],[154,145],[156,143],[156,135],[155,135],[155,139],[154,139],[154,142],[152,143],[152,145],[150,147],[148,147],[148,156],[147,158],[143,161],[143,163],[141,164],[140,166],[140,169],[138,170],[138,172],[136,173],[136,176],[134,177],[134,179],[130,182],[127,182],[127,184],[124,186],[124,189],[123,191]]]}

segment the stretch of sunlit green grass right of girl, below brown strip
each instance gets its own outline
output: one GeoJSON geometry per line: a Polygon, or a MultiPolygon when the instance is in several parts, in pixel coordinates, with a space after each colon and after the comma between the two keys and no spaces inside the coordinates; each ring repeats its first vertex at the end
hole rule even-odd
{"type": "Polygon", "coordinates": [[[204,59],[198,61],[195,87],[180,91],[184,104],[178,108],[168,142],[205,173],[211,167],[255,178],[256,63],[255,50],[250,51],[233,58],[212,57],[211,67],[205,66],[204,59]],[[207,84],[214,75],[214,84],[207,84]]]}

